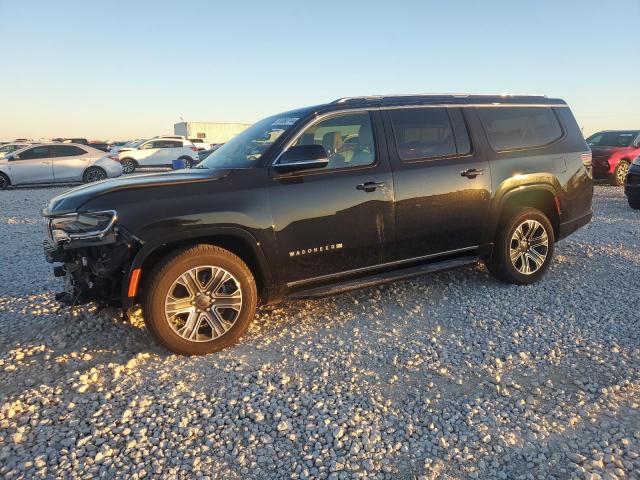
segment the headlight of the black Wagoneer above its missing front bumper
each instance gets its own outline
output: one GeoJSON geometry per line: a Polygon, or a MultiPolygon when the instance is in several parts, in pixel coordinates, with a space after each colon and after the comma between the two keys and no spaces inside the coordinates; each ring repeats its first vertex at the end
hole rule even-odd
{"type": "Polygon", "coordinates": [[[74,213],[51,219],[51,237],[56,243],[70,240],[102,238],[115,223],[114,210],[74,213]]]}

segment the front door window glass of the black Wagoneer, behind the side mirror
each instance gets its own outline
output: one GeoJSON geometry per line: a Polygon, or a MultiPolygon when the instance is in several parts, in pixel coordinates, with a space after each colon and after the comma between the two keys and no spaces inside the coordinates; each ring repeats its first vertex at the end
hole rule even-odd
{"type": "Polygon", "coordinates": [[[347,113],[308,127],[295,145],[322,145],[326,169],[372,165],[376,161],[371,118],[367,112],[347,113]]]}

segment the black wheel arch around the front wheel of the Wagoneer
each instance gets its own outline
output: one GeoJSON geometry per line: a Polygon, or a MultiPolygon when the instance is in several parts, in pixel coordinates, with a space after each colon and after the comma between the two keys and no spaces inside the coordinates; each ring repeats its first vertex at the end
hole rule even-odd
{"type": "Polygon", "coordinates": [[[136,253],[123,278],[121,297],[123,306],[132,306],[144,288],[145,279],[155,265],[171,252],[188,248],[197,244],[215,245],[229,250],[247,264],[253,273],[258,298],[261,302],[269,299],[269,286],[271,284],[271,271],[259,242],[246,230],[235,227],[221,227],[206,232],[182,232],[169,238],[149,242],[136,253]],[[129,283],[134,270],[140,269],[139,286],[135,297],[128,296],[129,283]]]}

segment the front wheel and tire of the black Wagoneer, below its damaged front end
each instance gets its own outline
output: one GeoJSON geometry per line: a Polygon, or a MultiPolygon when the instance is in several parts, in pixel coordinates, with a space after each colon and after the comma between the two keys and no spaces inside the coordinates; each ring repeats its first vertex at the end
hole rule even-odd
{"type": "Polygon", "coordinates": [[[236,343],[249,328],[258,300],[247,265],[212,245],[179,250],[162,260],[145,290],[147,328],[181,355],[217,352],[236,343]]]}

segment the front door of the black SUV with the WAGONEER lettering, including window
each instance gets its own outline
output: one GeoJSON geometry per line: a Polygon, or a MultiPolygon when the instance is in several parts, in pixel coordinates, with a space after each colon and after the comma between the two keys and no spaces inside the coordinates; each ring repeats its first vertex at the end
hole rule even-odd
{"type": "Polygon", "coordinates": [[[374,114],[333,114],[299,134],[294,145],[324,147],[324,168],[272,170],[280,283],[299,287],[384,262],[384,245],[394,237],[393,179],[374,114]]]}

